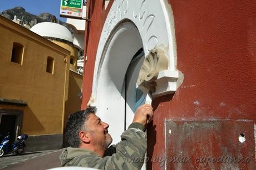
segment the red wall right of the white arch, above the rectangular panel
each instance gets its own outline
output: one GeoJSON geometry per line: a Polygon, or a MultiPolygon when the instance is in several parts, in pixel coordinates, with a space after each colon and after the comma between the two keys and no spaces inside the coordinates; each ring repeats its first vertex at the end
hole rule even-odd
{"type": "MultiPolygon", "coordinates": [[[[159,140],[164,138],[165,119],[256,121],[256,1],[169,3],[175,22],[177,67],[184,81],[173,99],[154,100],[151,131],[156,133],[149,132],[151,156],[165,152],[165,143],[159,140]]],[[[193,147],[200,145],[205,143],[193,147]]],[[[148,166],[159,168],[156,163],[148,166]]]]}

